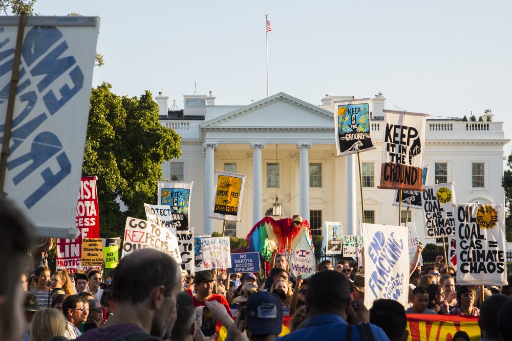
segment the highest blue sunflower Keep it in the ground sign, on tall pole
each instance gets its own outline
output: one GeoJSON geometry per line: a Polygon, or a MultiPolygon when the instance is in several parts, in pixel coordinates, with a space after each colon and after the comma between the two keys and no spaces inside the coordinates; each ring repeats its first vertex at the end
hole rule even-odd
{"type": "Polygon", "coordinates": [[[337,156],[375,149],[370,132],[370,99],[335,102],[334,131],[337,156]]]}

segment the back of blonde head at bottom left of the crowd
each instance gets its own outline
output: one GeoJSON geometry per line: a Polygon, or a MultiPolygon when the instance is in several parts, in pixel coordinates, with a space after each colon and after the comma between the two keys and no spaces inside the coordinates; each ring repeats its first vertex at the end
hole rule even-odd
{"type": "Polygon", "coordinates": [[[57,309],[39,310],[30,324],[30,341],[46,341],[52,336],[64,336],[65,333],[66,318],[57,309]]]}

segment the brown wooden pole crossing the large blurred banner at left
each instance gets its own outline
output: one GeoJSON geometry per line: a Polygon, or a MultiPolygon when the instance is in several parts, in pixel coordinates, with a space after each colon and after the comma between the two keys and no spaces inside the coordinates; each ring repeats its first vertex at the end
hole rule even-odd
{"type": "Polygon", "coordinates": [[[16,89],[19,80],[19,62],[22,58],[23,33],[27,23],[27,12],[19,15],[18,35],[16,37],[16,48],[14,50],[14,61],[12,64],[11,85],[9,88],[9,100],[7,102],[7,115],[5,118],[4,140],[2,142],[2,154],[0,154],[0,199],[4,198],[5,175],[7,168],[7,157],[9,156],[9,141],[11,139],[12,118],[14,116],[14,102],[16,89]]]}

